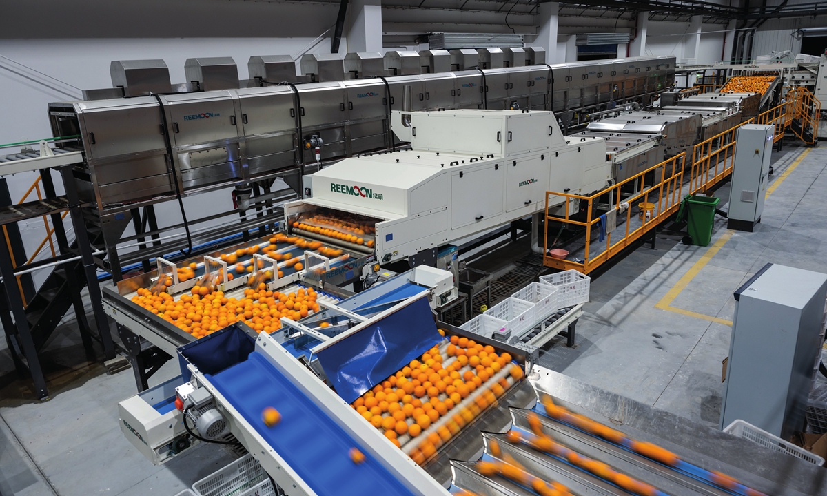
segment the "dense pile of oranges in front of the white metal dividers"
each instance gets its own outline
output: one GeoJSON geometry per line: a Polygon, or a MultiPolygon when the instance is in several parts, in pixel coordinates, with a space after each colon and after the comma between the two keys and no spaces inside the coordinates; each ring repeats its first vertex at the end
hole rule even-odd
{"type": "Polygon", "coordinates": [[[241,299],[225,298],[221,291],[197,285],[190,293],[175,301],[169,293],[152,293],[141,288],[132,302],[196,338],[235,322],[245,322],[256,332],[273,332],[281,328],[281,317],[298,321],[319,311],[313,288],[284,294],[268,291],[261,283],[257,289],[245,289],[241,299]]]}

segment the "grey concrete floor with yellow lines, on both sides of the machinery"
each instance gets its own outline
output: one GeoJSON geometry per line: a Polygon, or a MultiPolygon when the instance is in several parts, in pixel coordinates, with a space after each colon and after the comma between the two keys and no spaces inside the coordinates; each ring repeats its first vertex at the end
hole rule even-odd
{"type": "MultiPolygon", "coordinates": [[[[755,232],[727,231],[718,217],[713,243],[699,247],[661,231],[656,250],[640,246],[593,281],[576,348],[552,343],[541,364],[717,426],[733,291],[767,262],[827,272],[827,147],[788,146],[773,161],[772,194],[755,232]]],[[[728,191],[724,185],[716,194],[725,199],[728,191]]],[[[45,403],[14,373],[0,340],[2,496],[173,495],[234,458],[222,447],[201,446],[151,465],[118,427],[117,403],[136,392],[131,370],[107,375],[88,363],[73,328],[65,322],[44,352],[51,393],[45,403]]],[[[175,374],[176,365],[165,365],[151,384],[175,374]]]]}

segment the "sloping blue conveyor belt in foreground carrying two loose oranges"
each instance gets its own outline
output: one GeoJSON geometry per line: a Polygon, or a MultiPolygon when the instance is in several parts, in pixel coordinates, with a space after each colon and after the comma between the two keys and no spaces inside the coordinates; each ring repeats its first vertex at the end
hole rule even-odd
{"type": "Polygon", "coordinates": [[[210,380],[317,494],[413,494],[259,352],[210,380]],[[265,426],[266,407],[281,413],[278,425],[265,426]],[[348,455],[353,447],[366,456],[361,465],[348,455]]]}

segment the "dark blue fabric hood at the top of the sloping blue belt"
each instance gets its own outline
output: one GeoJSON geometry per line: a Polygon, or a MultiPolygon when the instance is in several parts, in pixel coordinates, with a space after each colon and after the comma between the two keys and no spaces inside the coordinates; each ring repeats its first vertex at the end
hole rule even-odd
{"type": "Polygon", "coordinates": [[[203,374],[218,374],[232,365],[247,359],[256,350],[256,340],[242,331],[238,324],[213,332],[198,341],[187,343],[178,349],[178,360],[184,380],[192,374],[187,362],[198,367],[203,374]]]}

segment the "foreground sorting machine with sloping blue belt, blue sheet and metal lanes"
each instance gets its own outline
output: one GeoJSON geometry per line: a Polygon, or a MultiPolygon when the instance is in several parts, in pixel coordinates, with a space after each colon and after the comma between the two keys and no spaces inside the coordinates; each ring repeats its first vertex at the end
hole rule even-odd
{"type": "Polygon", "coordinates": [[[290,495],[538,494],[533,478],[563,484],[571,494],[628,494],[629,480],[650,488],[633,494],[819,491],[815,465],[582,384],[533,365],[536,356],[434,322],[428,291],[412,279],[399,274],[325,305],[323,315],[285,321],[273,334],[256,336],[236,324],[180,346],[179,377],[119,404],[122,432],[156,464],[198,442],[235,439],[290,495]],[[320,327],[322,321],[337,325],[320,327]],[[459,361],[449,348],[462,337],[512,361],[417,436],[387,436],[351,407],[434,348],[443,365],[459,361]],[[550,414],[542,404],[549,398],[570,413],[550,414]],[[278,422],[263,415],[268,408],[278,411],[278,422]],[[592,422],[620,437],[609,441],[582,427],[592,422]],[[567,455],[518,442],[534,435],[567,455]],[[664,451],[641,455],[623,444],[634,442],[664,451]],[[530,480],[491,474],[480,462],[519,465],[530,480]],[[631,479],[608,477],[607,470],[631,479]]]}

